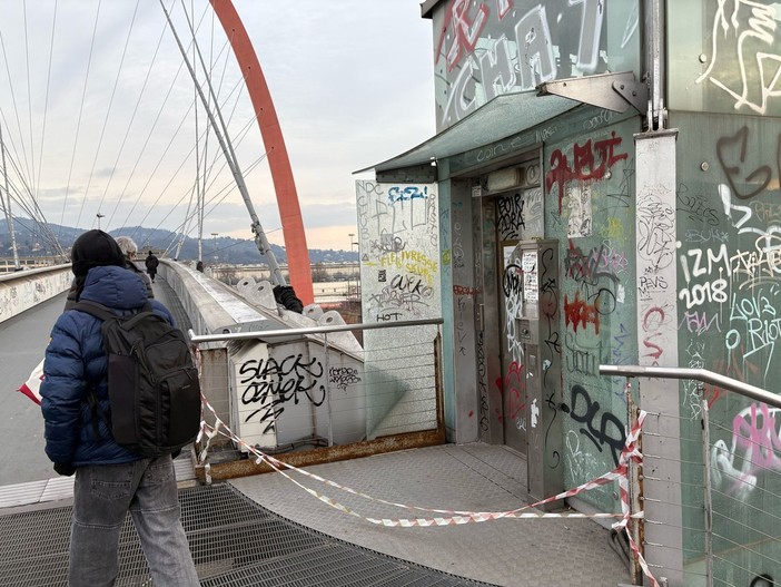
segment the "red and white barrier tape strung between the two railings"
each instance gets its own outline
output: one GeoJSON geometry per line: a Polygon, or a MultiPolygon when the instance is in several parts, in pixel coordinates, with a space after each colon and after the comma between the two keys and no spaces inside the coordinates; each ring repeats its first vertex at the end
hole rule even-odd
{"type": "Polygon", "coordinates": [[[500,520],[500,519],[530,519],[530,518],[616,518],[620,517],[621,519],[613,524],[613,529],[615,530],[624,530],[626,532],[626,536],[629,538],[629,544],[630,548],[634,552],[634,555],[637,557],[637,560],[643,569],[643,573],[645,576],[650,579],[651,585],[654,587],[659,587],[659,583],[656,579],[653,577],[651,574],[651,569],[649,568],[645,559],[640,552],[640,548],[637,547],[636,542],[634,541],[632,537],[632,532],[630,531],[629,528],[629,520],[630,518],[642,518],[643,512],[636,512],[632,515],[630,512],[630,503],[629,503],[629,463],[630,461],[634,461],[636,463],[642,463],[643,456],[640,452],[640,449],[637,447],[637,440],[640,439],[640,433],[642,430],[643,421],[645,420],[646,412],[640,411],[640,414],[637,417],[637,421],[633,425],[632,430],[626,437],[626,443],[624,444],[624,449],[621,452],[621,457],[619,459],[619,466],[613,469],[610,472],[606,472],[602,475],[601,477],[597,477],[596,479],[593,479],[586,483],[583,483],[579,487],[575,487],[573,489],[569,489],[566,491],[563,491],[556,496],[550,497],[547,499],[543,499],[541,501],[537,501],[535,503],[531,503],[527,506],[524,506],[522,508],[517,508],[514,510],[510,511],[458,511],[458,510],[444,510],[444,509],[432,509],[432,508],[423,508],[418,506],[408,506],[405,503],[395,503],[393,501],[386,501],[384,499],[375,498],[373,496],[363,493],[360,491],[356,491],[353,488],[349,488],[347,486],[339,485],[335,481],[324,479],[323,477],[319,477],[318,475],[315,475],[313,472],[309,472],[305,469],[299,469],[293,464],[288,464],[286,462],[283,462],[276,458],[274,458],[270,454],[266,454],[265,452],[261,452],[257,448],[247,444],[244,440],[238,438],[230,428],[223,422],[219,417],[217,415],[217,412],[215,409],[209,404],[209,402],[206,400],[206,398],[202,398],[204,404],[208,408],[208,410],[211,412],[211,414],[215,418],[215,424],[210,425],[208,424],[205,420],[201,421],[201,429],[198,434],[198,438],[196,442],[200,442],[200,440],[206,437],[207,442],[206,447],[201,450],[201,452],[198,456],[198,459],[200,462],[202,462],[206,459],[208,447],[211,442],[211,440],[217,436],[217,434],[223,434],[226,438],[229,438],[241,447],[246,447],[246,449],[253,453],[256,458],[255,461],[260,464],[260,462],[266,462],[269,467],[271,467],[275,471],[284,476],[286,479],[295,483],[296,486],[300,487],[304,491],[307,493],[312,495],[313,497],[317,498],[318,500],[323,501],[324,503],[327,503],[332,508],[343,511],[345,513],[348,513],[350,516],[355,516],[357,518],[360,518],[363,520],[366,520],[370,524],[378,525],[378,526],[385,526],[385,527],[401,527],[401,528],[412,528],[412,527],[421,527],[421,528],[427,528],[432,526],[459,526],[464,524],[478,524],[478,522],[484,522],[484,521],[493,521],[493,520],[500,520]],[[315,491],[314,489],[310,489],[303,483],[300,483],[298,480],[294,479],[290,477],[287,472],[285,472],[284,469],[289,469],[291,471],[296,471],[298,473],[301,473],[313,480],[319,481],[326,486],[334,487],[336,489],[339,489],[342,491],[346,491],[348,493],[352,493],[354,496],[367,499],[369,501],[374,501],[376,503],[383,503],[386,506],[393,506],[397,508],[403,508],[406,510],[411,511],[424,511],[427,513],[442,513],[444,517],[429,517],[429,518],[412,518],[412,519],[387,519],[387,518],[369,518],[366,516],[362,516],[360,513],[352,510],[347,506],[344,506],[343,503],[339,503],[338,501],[335,501],[334,499],[329,498],[326,495],[319,493],[318,491],[315,491]],[[589,491],[590,489],[594,489],[596,487],[604,486],[606,483],[610,483],[612,481],[619,481],[619,488],[620,488],[620,495],[621,495],[621,513],[592,513],[592,515],[585,515],[585,513],[545,513],[545,512],[536,512],[536,511],[524,511],[527,509],[535,508],[537,506],[543,506],[545,503],[552,502],[552,501],[557,501],[561,499],[570,498],[577,496],[579,493],[582,493],[584,491],[589,491]]]}

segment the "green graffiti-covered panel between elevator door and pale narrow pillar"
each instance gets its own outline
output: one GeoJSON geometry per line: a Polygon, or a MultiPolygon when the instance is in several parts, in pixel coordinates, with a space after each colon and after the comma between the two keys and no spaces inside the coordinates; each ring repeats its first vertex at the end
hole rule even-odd
{"type": "MultiPolygon", "coordinates": [[[[621,380],[599,365],[633,364],[635,307],[634,140],[637,119],[545,145],[546,237],[560,243],[564,486],[612,470],[625,442],[621,380]]],[[[612,511],[614,488],[590,491],[612,511]]]]}

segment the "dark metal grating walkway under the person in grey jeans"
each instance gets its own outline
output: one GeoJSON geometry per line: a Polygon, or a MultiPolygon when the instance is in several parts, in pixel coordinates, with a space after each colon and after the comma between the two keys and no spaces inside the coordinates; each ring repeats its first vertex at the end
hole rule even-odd
{"type": "MultiPolygon", "coordinates": [[[[179,491],[202,586],[469,587],[487,584],[353,546],[270,512],[227,483],[179,491]]],[[[63,586],[70,507],[0,515],[0,586],[63,586]]],[[[117,586],[149,586],[128,516],[117,586]]]]}

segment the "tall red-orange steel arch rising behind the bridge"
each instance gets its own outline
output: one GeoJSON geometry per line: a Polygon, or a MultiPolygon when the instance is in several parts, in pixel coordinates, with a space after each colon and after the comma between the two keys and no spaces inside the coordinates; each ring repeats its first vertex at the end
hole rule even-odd
{"type": "Polygon", "coordinates": [[[258,61],[249,40],[247,29],[244,28],[233,2],[230,0],[209,0],[209,2],[230,40],[230,46],[241,68],[244,82],[253,101],[255,118],[258,121],[266,147],[266,158],[271,170],[274,189],[277,194],[277,207],[281,218],[290,285],[304,305],[312,304],[315,301],[315,294],[312,286],[309,251],[306,245],[301,209],[298,205],[296,183],[293,178],[290,159],[287,156],[279,119],[274,109],[271,92],[268,90],[266,78],[260,69],[260,61],[258,61]]]}

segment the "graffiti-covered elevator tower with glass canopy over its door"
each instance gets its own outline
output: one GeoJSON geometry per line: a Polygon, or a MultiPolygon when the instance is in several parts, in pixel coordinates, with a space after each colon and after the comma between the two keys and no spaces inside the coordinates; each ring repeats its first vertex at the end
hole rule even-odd
{"type": "MultiPolygon", "coordinates": [[[[773,0],[423,2],[437,134],[373,166],[375,180],[358,189],[358,223],[362,252],[398,236],[417,243],[407,255],[423,255],[406,268],[431,284],[426,307],[445,321],[449,440],[516,450],[530,463],[530,488],[543,475],[534,459],[555,452],[543,472],[572,488],[612,470],[626,440],[626,382],[600,375],[600,364],[704,368],[774,390],[780,12],[773,0]],[[426,213],[418,207],[427,219],[404,225],[404,235],[388,226],[375,234],[375,211],[362,197],[404,189],[429,202],[426,213]],[[547,284],[557,317],[538,353],[558,361],[561,398],[534,408],[528,381],[538,363],[524,352],[512,287],[524,273],[523,256],[521,268],[511,257],[526,242],[554,242],[557,256],[547,284]],[[532,414],[553,432],[533,439],[532,414]]],[[[409,213],[406,204],[390,204],[396,217],[409,213]]],[[[362,267],[368,291],[379,277],[362,267]]],[[[646,558],[685,569],[698,538],[680,528],[700,524],[691,513],[700,505],[673,487],[692,481],[682,462],[702,459],[688,442],[699,425],[698,389],[641,381],[630,392],[680,422],[646,422],[645,449],[668,467],[654,477],[675,482],[646,479],[645,489],[683,503],[654,512],[670,524],[646,528],[646,558]],[[683,440],[661,440],[670,438],[683,440]]],[[[709,393],[724,430],[714,462],[729,472],[751,457],[751,414],[761,407],[709,393]]],[[[778,448],[771,452],[781,462],[778,448]]],[[[748,462],[744,472],[762,487],[761,469],[748,462]]],[[[760,496],[745,496],[758,512],[760,496]]],[[[610,485],[569,502],[621,508],[610,485]]],[[[683,570],[668,575],[671,585],[685,583],[683,570]]]]}

